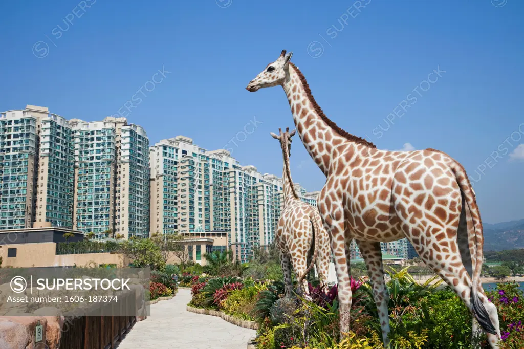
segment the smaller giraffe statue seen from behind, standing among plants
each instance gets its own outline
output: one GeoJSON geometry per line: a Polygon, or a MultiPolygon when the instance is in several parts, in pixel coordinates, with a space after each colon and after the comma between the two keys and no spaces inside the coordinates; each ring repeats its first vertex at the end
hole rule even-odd
{"type": "Polygon", "coordinates": [[[321,286],[328,285],[330,241],[322,225],[319,210],[300,200],[291,180],[289,156],[291,155],[291,137],[294,136],[296,130],[292,130],[291,133],[289,133],[289,127],[284,133],[281,128],[278,130],[279,135],[271,132],[271,136],[278,139],[282,149],[284,209],[278,219],[275,240],[280,252],[286,294],[289,295],[293,289],[290,268],[293,266],[297,274],[297,285],[302,285],[307,295],[309,293],[307,275],[314,264],[316,264],[321,286]],[[308,257],[312,248],[314,248],[313,256],[308,266],[308,257]]]}

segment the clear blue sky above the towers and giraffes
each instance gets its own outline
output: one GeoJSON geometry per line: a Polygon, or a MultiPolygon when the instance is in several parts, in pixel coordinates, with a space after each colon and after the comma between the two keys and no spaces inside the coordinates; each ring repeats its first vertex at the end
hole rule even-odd
{"type": "MultiPolygon", "coordinates": [[[[474,181],[484,221],[524,218],[524,3],[358,3],[5,1],[0,110],[34,104],[86,121],[120,110],[151,144],[229,142],[243,165],[280,174],[269,132],[293,126],[285,94],[244,87],[286,49],[339,126],[383,149],[445,151],[474,181]],[[147,83],[155,73],[161,82],[147,83]]],[[[290,160],[294,181],[322,188],[299,141],[290,160]]]]}

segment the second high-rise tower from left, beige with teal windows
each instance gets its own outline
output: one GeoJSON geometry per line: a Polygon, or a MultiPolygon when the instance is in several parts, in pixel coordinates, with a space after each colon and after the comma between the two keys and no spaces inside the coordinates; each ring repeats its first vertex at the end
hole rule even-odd
{"type": "Polygon", "coordinates": [[[149,139],[123,117],[70,121],[74,131],[73,227],[97,238],[149,237],[149,139]]]}

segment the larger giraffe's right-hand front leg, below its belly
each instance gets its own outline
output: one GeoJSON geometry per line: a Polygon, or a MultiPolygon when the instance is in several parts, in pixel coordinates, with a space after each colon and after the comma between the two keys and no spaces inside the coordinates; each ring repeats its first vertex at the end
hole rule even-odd
{"type": "Polygon", "coordinates": [[[380,328],[382,330],[384,346],[387,348],[389,345],[389,294],[388,290],[386,289],[386,283],[384,282],[384,266],[382,264],[380,243],[357,241],[357,244],[366,263],[369,280],[373,285],[373,298],[377,304],[378,318],[380,320],[380,328]]]}

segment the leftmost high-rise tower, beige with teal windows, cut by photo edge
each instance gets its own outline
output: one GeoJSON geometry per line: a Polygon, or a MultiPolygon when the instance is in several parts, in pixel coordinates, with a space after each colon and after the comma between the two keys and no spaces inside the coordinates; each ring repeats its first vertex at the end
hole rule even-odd
{"type": "Polygon", "coordinates": [[[46,107],[0,114],[0,230],[72,227],[71,126],[46,107]]]}

